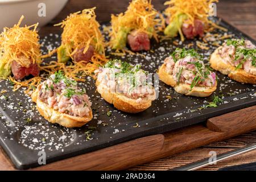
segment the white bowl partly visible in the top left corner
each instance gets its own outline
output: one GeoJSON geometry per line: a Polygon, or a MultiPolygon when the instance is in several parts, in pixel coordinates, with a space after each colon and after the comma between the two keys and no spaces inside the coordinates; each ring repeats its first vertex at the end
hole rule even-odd
{"type": "Polygon", "coordinates": [[[0,33],[3,27],[13,27],[24,15],[24,24],[39,23],[39,27],[50,22],[63,9],[68,0],[0,0],[0,33]],[[46,5],[46,16],[39,16],[39,4],[46,5]]]}

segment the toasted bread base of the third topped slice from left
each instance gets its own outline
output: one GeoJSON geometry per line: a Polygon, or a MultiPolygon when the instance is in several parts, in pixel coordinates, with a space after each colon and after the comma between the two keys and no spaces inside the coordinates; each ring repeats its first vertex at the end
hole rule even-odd
{"type": "Polygon", "coordinates": [[[165,70],[166,65],[163,64],[158,71],[160,80],[172,86],[177,93],[185,94],[186,96],[208,97],[217,89],[216,81],[214,86],[194,86],[191,90],[188,84],[177,84],[172,75],[168,74],[165,70]]]}

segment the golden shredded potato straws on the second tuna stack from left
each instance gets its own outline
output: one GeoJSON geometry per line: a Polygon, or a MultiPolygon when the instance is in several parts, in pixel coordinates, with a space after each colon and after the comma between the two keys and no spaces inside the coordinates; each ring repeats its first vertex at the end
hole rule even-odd
{"type": "MultiPolygon", "coordinates": [[[[90,60],[90,63],[86,64],[85,61],[80,63],[74,63],[72,67],[69,67],[69,71],[72,73],[83,72],[86,75],[92,75],[94,70],[99,65],[104,65],[108,59],[105,57],[105,43],[104,37],[100,31],[100,24],[96,20],[96,14],[92,9],[84,9],[77,13],[70,14],[63,22],[55,24],[55,26],[61,26],[63,33],[61,34],[62,44],[68,44],[71,47],[69,55],[73,59],[73,55],[79,48],[84,47],[83,53],[88,51],[89,46],[94,47],[94,55],[90,60]]],[[[55,50],[48,55],[55,53],[55,50]]],[[[47,56],[45,56],[47,57],[47,56]]],[[[61,65],[57,64],[56,65],[61,65]]],[[[64,69],[64,65],[61,65],[64,69]]],[[[53,73],[54,70],[51,71],[53,73]]],[[[68,75],[67,75],[68,76],[68,75]]]]}

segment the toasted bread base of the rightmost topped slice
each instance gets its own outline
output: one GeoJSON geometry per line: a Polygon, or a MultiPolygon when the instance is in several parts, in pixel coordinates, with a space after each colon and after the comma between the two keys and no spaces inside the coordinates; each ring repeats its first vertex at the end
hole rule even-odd
{"type": "Polygon", "coordinates": [[[238,82],[256,84],[255,75],[247,73],[243,69],[236,70],[236,67],[233,67],[230,64],[226,64],[224,61],[222,61],[220,55],[218,55],[217,52],[218,52],[218,49],[216,49],[210,56],[210,67],[212,67],[216,71],[221,72],[224,75],[228,75],[228,77],[238,82]]]}

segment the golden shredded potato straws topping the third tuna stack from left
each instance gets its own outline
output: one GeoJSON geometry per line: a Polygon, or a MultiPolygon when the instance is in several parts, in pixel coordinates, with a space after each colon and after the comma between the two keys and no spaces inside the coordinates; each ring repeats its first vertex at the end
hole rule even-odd
{"type": "MultiPolygon", "coordinates": [[[[133,0],[125,13],[111,16],[110,46],[113,48],[118,31],[125,27],[138,32],[145,32],[158,41],[158,32],[165,27],[163,15],[158,13],[148,0],[133,0]],[[156,18],[159,16],[159,18],[156,18]]],[[[124,38],[126,39],[126,38],[124,38]]]]}

